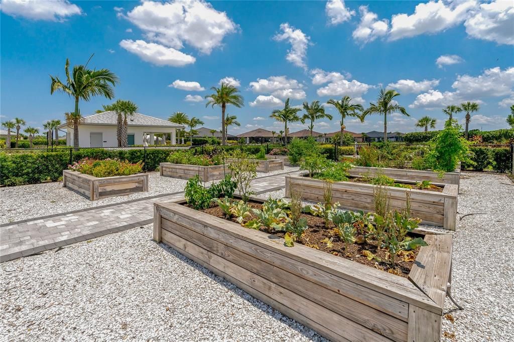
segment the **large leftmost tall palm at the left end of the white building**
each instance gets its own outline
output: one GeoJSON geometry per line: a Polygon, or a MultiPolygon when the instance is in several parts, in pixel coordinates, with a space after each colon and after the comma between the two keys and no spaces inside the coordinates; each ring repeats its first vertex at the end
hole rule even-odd
{"type": "MultiPolygon", "coordinates": [[[[91,60],[93,55],[89,58],[91,60]]],[[[88,61],[89,62],[89,61],[88,61]]],[[[62,91],[75,99],[75,111],[68,116],[73,125],[73,145],[79,149],[79,123],[82,118],[79,111],[79,100],[89,101],[94,96],[104,96],[111,100],[114,97],[113,87],[118,82],[118,77],[108,69],[88,69],[86,65],[75,65],[69,73],[69,60],[66,59],[64,66],[66,83],[61,82],[59,77],[50,76],[50,94],[54,91],[62,91]]]]}

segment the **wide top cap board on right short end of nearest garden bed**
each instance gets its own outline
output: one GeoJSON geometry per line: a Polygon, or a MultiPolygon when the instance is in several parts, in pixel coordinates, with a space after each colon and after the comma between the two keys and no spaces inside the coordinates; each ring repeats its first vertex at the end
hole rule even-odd
{"type": "Polygon", "coordinates": [[[421,247],[409,279],[440,308],[444,308],[451,272],[453,235],[426,235],[428,246],[421,247]]]}

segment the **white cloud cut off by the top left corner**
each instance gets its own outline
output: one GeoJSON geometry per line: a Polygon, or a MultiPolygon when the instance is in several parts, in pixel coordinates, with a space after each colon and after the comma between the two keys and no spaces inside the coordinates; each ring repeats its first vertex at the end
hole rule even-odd
{"type": "Polygon", "coordinates": [[[82,14],[80,7],[68,0],[3,0],[0,9],[11,16],[52,22],[62,22],[69,16],[82,14]]]}

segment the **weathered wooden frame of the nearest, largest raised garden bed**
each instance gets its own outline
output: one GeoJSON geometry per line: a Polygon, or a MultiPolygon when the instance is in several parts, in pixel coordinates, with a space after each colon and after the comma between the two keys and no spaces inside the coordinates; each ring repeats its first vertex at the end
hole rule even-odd
{"type": "Polygon", "coordinates": [[[427,235],[410,279],[246,229],[181,205],[154,204],[153,238],[334,341],[439,341],[452,235],[427,235]],[[410,281],[409,281],[410,280],[410,281]]]}

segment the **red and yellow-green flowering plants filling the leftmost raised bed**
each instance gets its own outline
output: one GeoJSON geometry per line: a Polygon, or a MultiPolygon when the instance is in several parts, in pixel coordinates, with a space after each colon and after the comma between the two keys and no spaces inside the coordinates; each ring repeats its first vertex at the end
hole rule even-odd
{"type": "Polygon", "coordinates": [[[143,164],[141,162],[131,164],[126,160],[120,161],[117,159],[96,160],[85,158],[72,165],[68,165],[68,168],[95,177],[112,177],[130,176],[140,173],[143,169],[143,164]]]}

